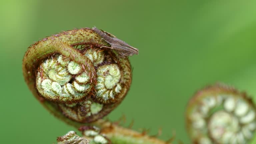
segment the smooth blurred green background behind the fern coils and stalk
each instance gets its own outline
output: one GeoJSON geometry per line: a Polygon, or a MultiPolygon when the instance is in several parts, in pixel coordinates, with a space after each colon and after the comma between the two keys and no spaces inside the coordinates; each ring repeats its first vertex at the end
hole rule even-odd
{"type": "Polygon", "coordinates": [[[27,47],[74,28],[108,31],[139,49],[131,89],[108,117],[133,129],[162,128],[161,139],[190,143],[186,104],[205,85],[224,82],[256,98],[256,1],[3,0],[0,2],[0,143],[51,144],[73,127],[46,111],[22,75],[27,47]],[[14,137],[14,138],[13,138],[14,137]]]}

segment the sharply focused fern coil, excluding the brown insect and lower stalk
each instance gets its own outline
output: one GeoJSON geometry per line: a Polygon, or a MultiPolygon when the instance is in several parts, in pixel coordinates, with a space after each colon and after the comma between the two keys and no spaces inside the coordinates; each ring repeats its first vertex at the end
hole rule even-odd
{"type": "Polygon", "coordinates": [[[131,67],[128,58],[102,46],[110,45],[89,28],[35,43],[23,61],[29,88],[43,103],[77,122],[105,116],[126,95],[131,67]]]}

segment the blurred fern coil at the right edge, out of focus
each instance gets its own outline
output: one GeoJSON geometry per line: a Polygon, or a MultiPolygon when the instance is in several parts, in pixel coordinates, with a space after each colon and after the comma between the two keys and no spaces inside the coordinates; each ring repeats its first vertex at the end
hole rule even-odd
{"type": "Polygon", "coordinates": [[[256,130],[255,114],[255,105],[245,93],[224,85],[209,86],[188,104],[188,133],[198,144],[247,144],[256,130]]]}

